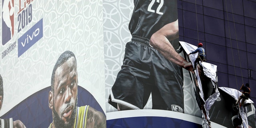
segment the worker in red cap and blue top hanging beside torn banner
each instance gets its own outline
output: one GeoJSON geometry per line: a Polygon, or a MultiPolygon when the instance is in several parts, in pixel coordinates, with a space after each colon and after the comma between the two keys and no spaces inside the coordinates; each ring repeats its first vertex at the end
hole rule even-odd
{"type": "MultiPolygon", "coordinates": [[[[193,70],[196,70],[196,65],[197,63],[201,60],[201,61],[205,61],[205,50],[204,48],[202,47],[203,44],[202,43],[199,43],[198,44],[198,48],[196,50],[194,50],[193,52],[191,52],[190,54],[195,54],[198,52],[198,57],[196,58],[195,62],[194,62],[194,69],[193,70]]],[[[190,55],[188,54],[188,56],[190,55]]]]}

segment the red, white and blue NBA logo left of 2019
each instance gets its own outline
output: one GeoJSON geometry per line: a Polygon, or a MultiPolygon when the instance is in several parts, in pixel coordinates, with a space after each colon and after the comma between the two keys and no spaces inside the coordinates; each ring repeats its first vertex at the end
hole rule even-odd
{"type": "Polygon", "coordinates": [[[14,0],[2,0],[2,44],[6,44],[14,34],[14,0]]]}

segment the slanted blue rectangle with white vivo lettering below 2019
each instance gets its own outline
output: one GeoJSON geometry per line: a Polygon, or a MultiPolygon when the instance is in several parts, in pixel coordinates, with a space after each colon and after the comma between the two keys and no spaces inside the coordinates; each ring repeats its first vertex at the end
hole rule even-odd
{"type": "Polygon", "coordinates": [[[43,37],[43,19],[18,39],[18,57],[43,37]]]}

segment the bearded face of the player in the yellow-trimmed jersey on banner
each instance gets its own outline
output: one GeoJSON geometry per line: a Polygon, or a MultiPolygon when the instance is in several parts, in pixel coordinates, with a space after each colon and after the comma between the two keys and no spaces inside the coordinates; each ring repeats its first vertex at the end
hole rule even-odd
{"type": "Polygon", "coordinates": [[[72,128],[77,106],[76,60],[69,58],[55,73],[53,120],[56,128],[72,128]]]}

